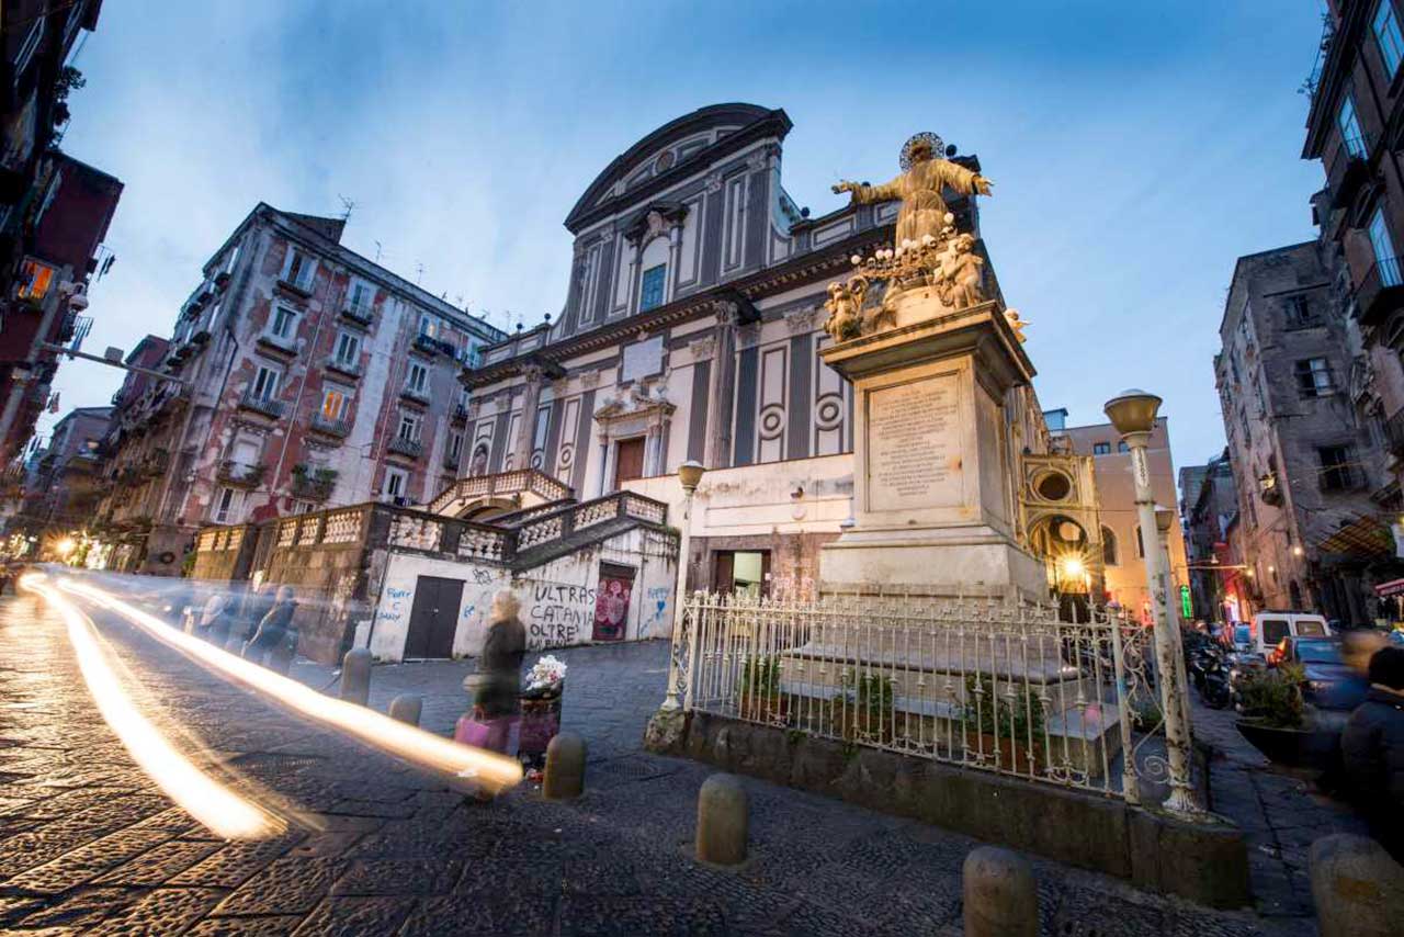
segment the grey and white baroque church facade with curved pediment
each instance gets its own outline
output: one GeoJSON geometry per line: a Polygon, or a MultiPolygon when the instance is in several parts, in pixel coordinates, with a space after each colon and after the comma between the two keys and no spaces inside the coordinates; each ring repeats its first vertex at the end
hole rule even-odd
{"type": "MultiPolygon", "coordinates": [[[[689,587],[816,590],[820,546],[854,490],[854,400],[820,358],[823,303],[851,257],[892,242],[900,202],[810,218],[781,181],[789,129],[781,110],[708,107],[600,173],[566,218],[559,317],[463,372],[468,475],[535,468],[580,499],[633,490],[677,504],[675,472],[695,459],[708,473],[689,587]]],[[[973,156],[953,162],[979,171],[973,156]]],[[[974,199],[948,195],[983,254],[974,199]]],[[[1032,389],[1014,405],[1009,438],[1046,451],[1032,389]]]]}

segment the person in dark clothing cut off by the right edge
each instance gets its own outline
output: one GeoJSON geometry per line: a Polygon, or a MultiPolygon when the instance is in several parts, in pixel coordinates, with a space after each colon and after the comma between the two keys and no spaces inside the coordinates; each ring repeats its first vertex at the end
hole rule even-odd
{"type": "Polygon", "coordinates": [[[1341,733],[1341,754],[1356,809],[1370,834],[1404,863],[1404,648],[1370,657],[1370,690],[1341,733]]]}

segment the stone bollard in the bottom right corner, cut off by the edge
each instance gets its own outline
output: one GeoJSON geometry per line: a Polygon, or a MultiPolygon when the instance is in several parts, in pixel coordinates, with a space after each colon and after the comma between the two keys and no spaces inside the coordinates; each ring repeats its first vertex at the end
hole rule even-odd
{"type": "Polygon", "coordinates": [[[1365,836],[1337,833],[1311,843],[1311,898],[1321,937],[1386,937],[1404,922],[1404,865],[1365,836]]]}

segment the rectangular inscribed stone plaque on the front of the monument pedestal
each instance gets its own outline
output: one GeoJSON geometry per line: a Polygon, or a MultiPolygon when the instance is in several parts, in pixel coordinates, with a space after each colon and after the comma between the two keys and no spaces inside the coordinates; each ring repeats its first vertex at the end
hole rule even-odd
{"type": "Polygon", "coordinates": [[[956,375],[868,393],[868,510],[962,503],[956,375]]]}

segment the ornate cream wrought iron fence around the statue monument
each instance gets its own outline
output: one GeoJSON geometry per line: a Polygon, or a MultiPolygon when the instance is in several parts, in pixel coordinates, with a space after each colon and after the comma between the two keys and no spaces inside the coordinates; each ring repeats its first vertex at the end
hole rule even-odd
{"type": "Polygon", "coordinates": [[[673,653],[691,711],[1139,802],[1170,780],[1151,648],[1101,610],[695,593],[673,653]]]}

